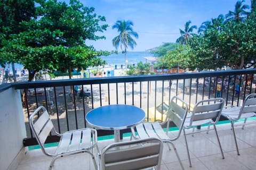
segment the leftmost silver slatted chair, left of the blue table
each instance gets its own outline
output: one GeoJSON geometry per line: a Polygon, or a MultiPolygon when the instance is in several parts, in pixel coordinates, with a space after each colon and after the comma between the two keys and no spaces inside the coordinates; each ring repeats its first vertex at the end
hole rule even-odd
{"type": "Polygon", "coordinates": [[[97,147],[98,149],[96,130],[84,128],[60,134],[55,131],[49,114],[43,106],[38,107],[36,111],[30,115],[29,125],[43,153],[52,157],[49,169],[53,167],[57,158],[82,152],[87,152],[91,155],[94,167],[97,168],[97,163],[93,155],[93,148],[97,147]],[[44,142],[50,132],[60,136],[59,145],[54,153],[50,153],[44,148],[44,142]],[[92,152],[90,150],[92,150],[92,152]]]}

